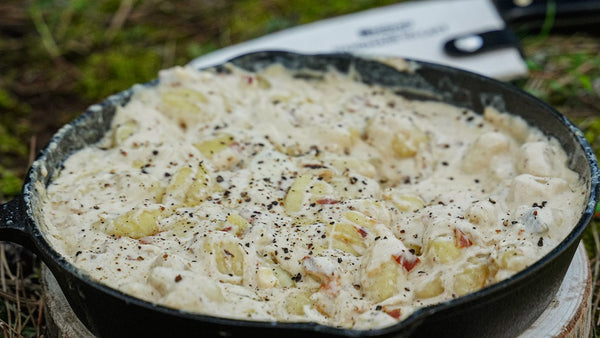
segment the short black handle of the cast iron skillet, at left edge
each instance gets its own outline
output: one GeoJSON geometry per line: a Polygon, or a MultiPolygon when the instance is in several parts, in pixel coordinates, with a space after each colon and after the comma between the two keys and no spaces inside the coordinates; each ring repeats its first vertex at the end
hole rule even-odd
{"type": "Polygon", "coordinates": [[[28,249],[35,249],[31,235],[25,226],[25,208],[22,196],[0,206],[0,241],[21,244],[28,249]]]}

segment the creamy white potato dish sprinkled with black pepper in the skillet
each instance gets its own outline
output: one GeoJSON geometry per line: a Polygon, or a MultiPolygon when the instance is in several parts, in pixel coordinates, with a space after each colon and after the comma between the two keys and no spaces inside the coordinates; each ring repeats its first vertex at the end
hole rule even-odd
{"type": "Polygon", "coordinates": [[[47,187],[91,278],[227,318],[379,328],[548,253],[585,186],[555,139],[337,71],[174,68],[47,187]]]}

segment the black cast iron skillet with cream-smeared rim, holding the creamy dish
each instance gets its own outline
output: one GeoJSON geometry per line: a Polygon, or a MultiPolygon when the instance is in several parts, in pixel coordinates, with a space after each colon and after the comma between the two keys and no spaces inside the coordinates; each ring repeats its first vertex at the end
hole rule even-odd
{"type": "MultiPolygon", "coordinates": [[[[21,196],[2,205],[0,239],[20,243],[48,265],[74,312],[89,330],[102,337],[150,336],[385,336],[493,337],[515,336],[546,308],[558,290],[582,232],[598,201],[598,164],[582,133],[563,115],[532,96],[501,82],[439,65],[409,61],[398,71],[383,63],[350,55],[298,55],[259,52],[232,63],[258,70],[273,63],[291,69],[341,72],[355,69],[362,81],[392,86],[398,95],[439,100],[482,113],[485,106],[522,116],[547,135],[556,137],[569,154],[569,167],[587,184],[586,205],[573,231],[540,261],[515,276],[473,294],[423,308],[395,326],[355,331],[312,323],[252,322],[190,314],[154,305],[98,284],[68,263],[46,241],[40,212],[42,196],[61,163],[74,151],[98,141],[109,128],[115,107],[126,104],[132,90],[90,107],[64,126],[39,154],[27,174],[21,196]]],[[[215,67],[215,71],[224,71],[215,67]]],[[[146,86],[155,85],[155,82],[146,86]]]]}

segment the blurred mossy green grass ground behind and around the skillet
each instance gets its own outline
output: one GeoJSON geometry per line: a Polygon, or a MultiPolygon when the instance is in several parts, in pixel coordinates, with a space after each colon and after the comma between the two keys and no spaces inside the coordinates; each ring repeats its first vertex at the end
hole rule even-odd
{"type": "MultiPolygon", "coordinates": [[[[185,64],[230,44],[392,2],[4,0],[0,4],[0,201],[18,194],[31,156],[56,128],[107,95],[146,82],[162,68],[185,64]]],[[[531,74],[514,83],[573,119],[598,153],[600,39],[556,35],[551,24],[549,20],[541,34],[521,34],[531,74]]],[[[585,236],[594,283],[599,225],[593,222],[585,236]]],[[[0,319],[10,321],[2,326],[4,334],[39,335],[44,323],[36,312],[35,276],[17,276],[6,264],[0,271],[4,283],[0,319]]]]}

